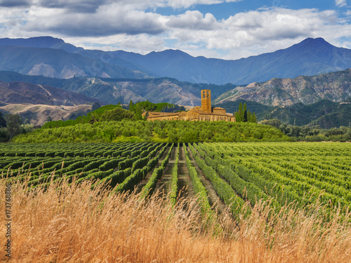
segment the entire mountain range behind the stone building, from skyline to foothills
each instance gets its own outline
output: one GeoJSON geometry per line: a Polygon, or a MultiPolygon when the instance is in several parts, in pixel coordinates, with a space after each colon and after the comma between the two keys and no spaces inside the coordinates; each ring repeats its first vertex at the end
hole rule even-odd
{"type": "Polygon", "coordinates": [[[213,104],[228,112],[246,102],[258,119],[330,128],[350,123],[350,67],[351,50],[321,38],[240,60],[194,58],[180,50],[85,50],[51,36],[0,39],[0,104],[149,100],[197,106],[199,91],[211,89],[213,104]],[[86,97],[74,102],[79,94],[86,97]]]}

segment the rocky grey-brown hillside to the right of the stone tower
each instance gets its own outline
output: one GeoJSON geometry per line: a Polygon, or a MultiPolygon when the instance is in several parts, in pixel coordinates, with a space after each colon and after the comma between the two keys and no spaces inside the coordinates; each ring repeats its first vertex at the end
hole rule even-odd
{"type": "Polygon", "coordinates": [[[234,100],[250,100],[267,106],[286,107],[296,103],[312,104],[319,100],[343,102],[351,97],[351,69],[295,79],[271,79],[238,86],[216,98],[221,104],[234,100]]]}

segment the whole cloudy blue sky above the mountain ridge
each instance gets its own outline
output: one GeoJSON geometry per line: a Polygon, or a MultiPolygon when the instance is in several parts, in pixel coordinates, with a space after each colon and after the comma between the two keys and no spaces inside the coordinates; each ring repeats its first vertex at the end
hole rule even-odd
{"type": "Polygon", "coordinates": [[[0,0],[0,37],[235,60],[322,37],[351,48],[351,0],[0,0]]]}

